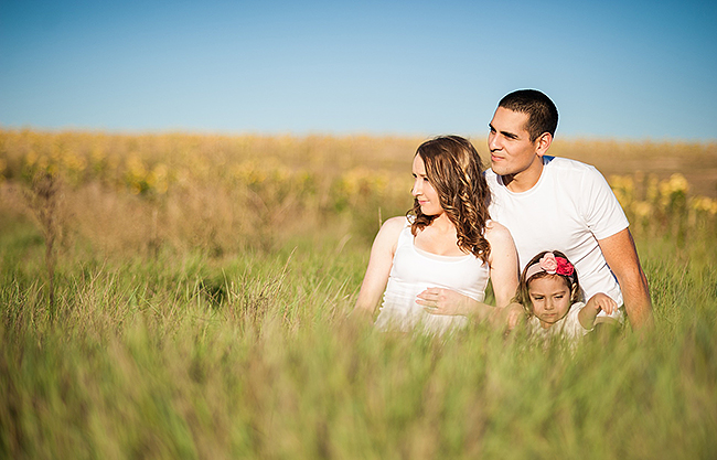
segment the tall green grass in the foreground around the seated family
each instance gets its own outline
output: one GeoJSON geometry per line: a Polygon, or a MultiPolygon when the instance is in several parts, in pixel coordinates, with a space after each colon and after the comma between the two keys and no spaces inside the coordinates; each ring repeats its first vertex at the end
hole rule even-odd
{"type": "Polygon", "coordinates": [[[28,225],[3,226],[1,457],[717,456],[717,268],[689,264],[714,235],[639,240],[655,330],[570,355],[480,324],[373,331],[350,315],[367,246],[339,238],[65,255],[51,315],[28,225]]]}

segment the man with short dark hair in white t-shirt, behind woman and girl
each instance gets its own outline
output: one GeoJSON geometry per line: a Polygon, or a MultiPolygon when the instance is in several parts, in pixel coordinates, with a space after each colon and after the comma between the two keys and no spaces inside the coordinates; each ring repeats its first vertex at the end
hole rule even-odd
{"type": "MultiPolygon", "coordinates": [[[[538,90],[501,99],[489,125],[491,217],[513,235],[521,270],[542,250],[561,250],[574,263],[586,299],[604,292],[624,304],[634,329],[650,325],[648,280],[624,212],[593,167],[546,156],[557,122],[555,104],[538,90]]],[[[454,293],[436,288],[418,300],[425,306],[456,301],[454,293]]],[[[596,322],[614,322],[621,314],[601,313],[596,322]]]]}

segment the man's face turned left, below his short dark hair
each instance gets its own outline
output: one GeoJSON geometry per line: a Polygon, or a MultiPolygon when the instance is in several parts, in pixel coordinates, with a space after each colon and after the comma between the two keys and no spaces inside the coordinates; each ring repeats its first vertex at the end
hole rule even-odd
{"type": "Polygon", "coordinates": [[[488,136],[491,151],[491,168],[499,175],[520,174],[535,160],[537,142],[531,141],[527,126],[528,115],[499,107],[493,115],[488,136]]]}

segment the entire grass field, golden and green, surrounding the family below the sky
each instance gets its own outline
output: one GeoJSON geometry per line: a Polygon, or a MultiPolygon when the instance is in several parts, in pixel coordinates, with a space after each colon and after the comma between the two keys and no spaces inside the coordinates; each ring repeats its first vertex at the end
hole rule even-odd
{"type": "Polygon", "coordinates": [[[554,146],[656,322],[570,355],[349,315],[421,141],[0,131],[0,458],[717,458],[717,146],[554,146]]]}

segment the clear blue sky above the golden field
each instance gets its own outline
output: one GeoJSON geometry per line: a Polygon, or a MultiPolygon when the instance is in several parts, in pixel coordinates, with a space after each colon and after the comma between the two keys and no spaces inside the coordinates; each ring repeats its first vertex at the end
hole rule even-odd
{"type": "Polygon", "coordinates": [[[717,139],[717,2],[0,0],[0,127],[717,139]]]}

